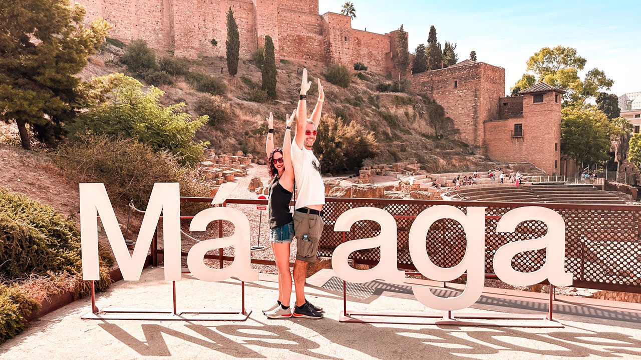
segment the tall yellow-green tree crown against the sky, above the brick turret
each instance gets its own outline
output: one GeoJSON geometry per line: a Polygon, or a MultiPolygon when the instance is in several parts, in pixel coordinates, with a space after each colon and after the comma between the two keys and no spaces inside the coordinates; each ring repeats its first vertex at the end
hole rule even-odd
{"type": "MultiPolygon", "coordinates": [[[[610,90],[614,81],[608,79],[603,70],[589,70],[583,80],[579,71],[583,70],[587,60],[572,47],[544,47],[530,56],[526,71],[538,81],[567,91],[563,96],[564,105],[585,102],[588,97],[597,96],[602,90],[610,90]]],[[[516,86],[516,85],[515,85],[516,86]]]]}

